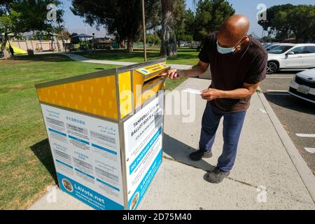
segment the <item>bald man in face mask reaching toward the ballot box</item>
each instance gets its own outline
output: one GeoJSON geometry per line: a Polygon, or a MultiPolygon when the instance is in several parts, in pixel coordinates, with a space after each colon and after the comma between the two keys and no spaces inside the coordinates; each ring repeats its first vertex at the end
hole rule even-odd
{"type": "Polygon", "coordinates": [[[219,31],[209,34],[200,52],[200,62],[185,71],[170,70],[162,76],[177,79],[205,73],[210,65],[212,82],[202,91],[207,106],[202,118],[199,150],[191,160],[212,157],[212,146],[221,118],[223,153],[214,171],[206,174],[211,183],[221,183],[235,165],[237,145],[251,96],[266,77],[267,51],[247,35],[249,21],[244,15],[233,15],[219,31]]]}

